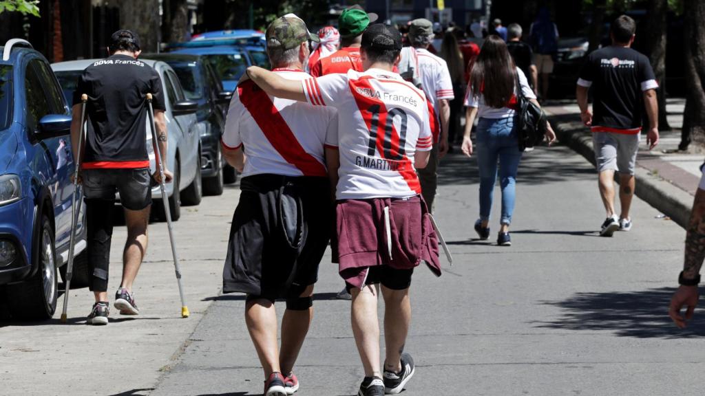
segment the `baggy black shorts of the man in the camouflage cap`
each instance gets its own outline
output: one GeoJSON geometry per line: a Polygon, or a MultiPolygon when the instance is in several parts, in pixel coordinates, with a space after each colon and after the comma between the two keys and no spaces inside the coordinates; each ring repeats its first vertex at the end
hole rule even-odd
{"type": "Polygon", "coordinates": [[[298,297],[318,280],[331,237],[328,178],[252,175],[240,181],[223,292],[298,297]]]}

